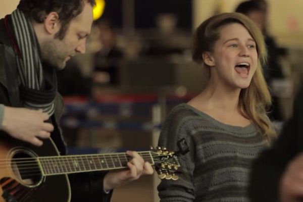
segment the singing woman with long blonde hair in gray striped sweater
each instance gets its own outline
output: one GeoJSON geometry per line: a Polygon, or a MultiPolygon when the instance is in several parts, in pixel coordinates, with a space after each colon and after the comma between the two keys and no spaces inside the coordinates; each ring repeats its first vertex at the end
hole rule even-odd
{"type": "Polygon", "coordinates": [[[266,107],[271,97],[262,74],[266,47],[247,17],[224,13],[195,32],[192,58],[209,71],[205,89],[175,107],[159,145],[189,151],[179,157],[179,179],[158,186],[161,201],[247,201],[251,161],[275,136],[266,107]],[[184,144],[184,143],[183,143],[184,144]]]}

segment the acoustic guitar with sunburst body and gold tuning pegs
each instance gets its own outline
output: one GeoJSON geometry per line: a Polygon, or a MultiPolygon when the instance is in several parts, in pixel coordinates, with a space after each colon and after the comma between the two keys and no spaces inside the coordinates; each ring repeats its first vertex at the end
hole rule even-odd
{"type": "MultiPolygon", "coordinates": [[[[178,179],[174,152],[151,148],[138,154],[155,167],[161,179],[178,179]]],[[[0,137],[0,202],[68,202],[67,174],[127,168],[126,153],[60,156],[51,138],[40,147],[0,137]]]]}

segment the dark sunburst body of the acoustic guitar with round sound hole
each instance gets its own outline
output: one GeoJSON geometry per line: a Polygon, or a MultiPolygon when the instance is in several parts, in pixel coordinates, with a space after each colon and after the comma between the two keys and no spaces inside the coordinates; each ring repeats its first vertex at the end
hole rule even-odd
{"type": "Polygon", "coordinates": [[[0,202],[70,201],[70,183],[66,174],[43,176],[37,162],[26,162],[26,158],[45,156],[59,156],[51,138],[37,147],[10,136],[0,137],[0,202]],[[24,158],[24,163],[16,164],[16,158],[24,158]],[[24,172],[22,168],[25,166],[32,166],[32,169],[24,172]]]}

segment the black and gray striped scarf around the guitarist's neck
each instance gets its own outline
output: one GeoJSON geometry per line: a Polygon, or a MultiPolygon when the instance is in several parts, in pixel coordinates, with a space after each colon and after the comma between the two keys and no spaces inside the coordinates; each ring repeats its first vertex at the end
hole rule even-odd
{"type": "Polygon", "coordinates": [[[42,109],[51,116],[55,111],[54,100],[57,92],[55,69],[47,72],[50,74],[47,76],[45,69],[43,72],[39,44],[33,26],[26,16],[17,9],[12,13],[11,19],[20,51],[17,66],[23,105],[29,109],[42,109]]]}

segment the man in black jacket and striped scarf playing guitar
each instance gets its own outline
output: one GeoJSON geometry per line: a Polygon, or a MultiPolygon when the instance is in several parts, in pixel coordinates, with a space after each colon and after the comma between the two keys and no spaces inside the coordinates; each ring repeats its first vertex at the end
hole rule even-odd
{"type": "MultiPolygon", "coordinates": [[[[52,137],[65,154],[58,122],[63,102],[56,69],[85,52],[93,0],[21,0],[0,20],[0,136],[41,146],[52,137]]],[[[109,201],[112,189],[153,173],[134,151],[128,170],[69,175],[71,201],[109,201]]]]}

